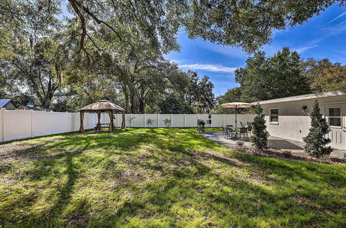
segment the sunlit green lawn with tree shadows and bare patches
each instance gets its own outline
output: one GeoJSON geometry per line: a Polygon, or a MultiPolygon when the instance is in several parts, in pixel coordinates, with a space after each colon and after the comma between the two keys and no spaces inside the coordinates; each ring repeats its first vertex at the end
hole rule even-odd
{"type": "Polygon", "coordinates": [[[345,227],[345,168],[195,129],[38,137],[0,144],[0,227],[345,227]]]}

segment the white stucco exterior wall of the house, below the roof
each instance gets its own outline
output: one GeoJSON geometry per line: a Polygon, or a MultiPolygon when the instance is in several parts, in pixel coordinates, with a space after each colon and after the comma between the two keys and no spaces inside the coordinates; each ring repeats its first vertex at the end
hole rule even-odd
{"type": "MultiPolygon", "coordinates": [[[[273,104],[262,104],[266,115],[266,126],[268,132],[275,137],[282,137],[289,140],[297,140],[302,142],[302,138],[309,133],[311,126],[310,113],[313,108],[313,103],[316,99],[304,99],[290,102],[278,102],[273,104]],[[302,106],[307,106],[307,111],[302,112],[302,106]],[[279,109],[279,122],[277,124],[269,122],[271,108],[279,109]]],[[[330,104],[346,104],[346,95],[336,97],[321,97],[317,99],[320,104],[322,115],[326,116],[327,106],[330,104]]],[[[344,111],[345,113],[345,111],[344,111]]],[[[345,125],[346,117],[343,116],[342,126],[345,125]]],[[[336,137],[336,131],[331,129],[329,137],[336,137]]],[[[341,136],[342,140],[344,136],[341,136]]],[[[346,149],[345,142],[338,146],[333,144],[335,148],[346,149]]]]}

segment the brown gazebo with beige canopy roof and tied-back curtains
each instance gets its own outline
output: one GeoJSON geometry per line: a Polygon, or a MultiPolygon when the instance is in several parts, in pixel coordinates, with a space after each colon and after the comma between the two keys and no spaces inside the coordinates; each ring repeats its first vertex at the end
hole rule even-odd
{"type": "Polygon", "coordinates": [[[122,122],[120,128],[125,129],[125,109],[107,101],[106,99],[102,99],[100,100],[100,102],[95,102],[93,104],[89,104],[87,106],[84,106],[83,108],[80,108],[80,133],[84,132],[84,113],[98,114],[98,124],[96,124],[96,131],[101,131],[100,117],[101,113],[104,112],[107,112],[109,114],[109,119],[111,120],[111,122],[109,123],[108,131],[114,131],[114,113],[122,113],[122,122]]]}

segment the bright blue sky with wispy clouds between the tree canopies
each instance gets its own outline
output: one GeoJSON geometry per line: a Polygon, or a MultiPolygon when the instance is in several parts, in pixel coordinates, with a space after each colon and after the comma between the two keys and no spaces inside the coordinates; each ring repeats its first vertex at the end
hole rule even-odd
{"type": "MultiPolygon", "coordinates": [[[[220,46],[202,39],[191,40],[181,30],[178,37],[180,53],[170,53],[166,59],[175,61],[183,70],[197,71],[200,77],[208,75],[214,83],[215,95],[236,87],[234,70],[245,66],[248,55],[240,48],[220,46]]],[[[331,6],[302,26],[273,32],[270,44],[264,50],[268,56],[288,46],[304,59],[328,58],[346,64],[346,7],[331,6]]]]}

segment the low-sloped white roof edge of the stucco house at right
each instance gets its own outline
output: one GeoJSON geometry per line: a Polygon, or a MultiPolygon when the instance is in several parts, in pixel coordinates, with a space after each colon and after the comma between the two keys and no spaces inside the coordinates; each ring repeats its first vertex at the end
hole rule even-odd
{"type": "MultiPolygon", "coordinates": [[[[280,102],[293,102],[298,101],[302,99],[317,99],[321,97],[334,97],[334,96],[340,96],[340,95],[346,95],[346,90],[342,91],[331,91],[331,92],[325,92],[325,93],[310,93],[310,94],[304,94],[304,95],[298,95],[293,97],[282,97],[278,99],[268,99],[266,101],[258,102],[260,104],[273,104],[273,103],[280,103],[280,102]]],[[[257,104],[257,102],[253,102],[252,104],[257,104]]]]}

